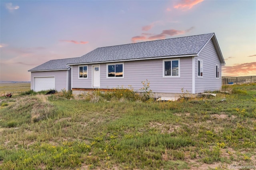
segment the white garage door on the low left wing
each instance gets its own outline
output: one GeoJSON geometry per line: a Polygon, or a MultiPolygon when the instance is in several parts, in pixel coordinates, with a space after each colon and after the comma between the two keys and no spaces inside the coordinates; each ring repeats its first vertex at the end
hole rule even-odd
{"type": "Polygon", "coordinates": [[[34,78],[34,91],[41,90],[54,90],[55,89],[55,77],[35,77],[34,78]]]}

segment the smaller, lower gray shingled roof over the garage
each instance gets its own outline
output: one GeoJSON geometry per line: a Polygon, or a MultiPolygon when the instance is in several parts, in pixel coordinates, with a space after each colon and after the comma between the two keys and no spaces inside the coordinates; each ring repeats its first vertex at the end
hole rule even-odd
{"type": "Polygon", "coordinates": [[[76,58],[66,58],[66,59],[53,59],[38,65],[28,71],[53,71],[53,70],[67,70],[70,69],[68,63],[72,63],[76,58]]]}

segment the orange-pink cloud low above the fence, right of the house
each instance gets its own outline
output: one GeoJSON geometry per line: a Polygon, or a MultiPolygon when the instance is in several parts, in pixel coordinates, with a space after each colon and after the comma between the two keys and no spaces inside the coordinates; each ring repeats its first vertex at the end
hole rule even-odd
{"type": "Polygon", "coordinates": [[[222,66],[222,73],[226,76],[255,75],[256,62],[222,66]]]}

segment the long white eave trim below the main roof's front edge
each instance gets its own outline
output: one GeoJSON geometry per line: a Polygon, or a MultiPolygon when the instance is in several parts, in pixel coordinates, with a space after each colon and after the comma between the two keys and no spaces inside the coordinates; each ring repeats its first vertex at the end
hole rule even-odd
{"type": "Polygon", "coordinates": [[[114,63],[114,62],[124,62],[124,61],[139,61],[139,60],[150,60],[150,59],[165,59],[165,58],[179,58],[179,57],[192,57],[198,56],[198,54],[189,54],[189,55],[172,55],[164,57],[151,57],[151,58],[138,58],[138,59],[122,59],[122,60],[113,60],[113,61],[100,61],[100,62],[91,62],[91,63],[73,63],[67,65],[83,65],[83,64],[98,64],[98,63],[114,63]]]}

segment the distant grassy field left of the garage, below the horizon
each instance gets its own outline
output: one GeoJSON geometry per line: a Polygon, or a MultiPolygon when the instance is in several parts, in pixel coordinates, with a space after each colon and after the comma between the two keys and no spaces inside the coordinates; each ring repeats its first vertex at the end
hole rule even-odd
{"type": "Polygon", "coordinates": [[[24,91],[30,90],[30,83],[17,82],[17,83],[0,83],[0,94],[12,93],[13,95],[19,94],[24,91]]]}

